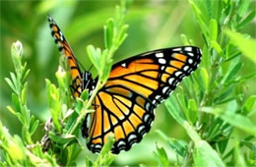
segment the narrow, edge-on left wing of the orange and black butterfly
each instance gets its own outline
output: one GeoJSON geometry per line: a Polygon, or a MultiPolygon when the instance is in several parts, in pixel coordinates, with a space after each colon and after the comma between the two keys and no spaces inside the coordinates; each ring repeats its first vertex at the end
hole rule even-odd
{"type": "Polygon", "coordinates": [[[71,69],[73,95],[79,97],[82,92],[82,75],[77,60],[64,34],[50,16],[48,16],[48,22],[51,28],[51,34],[55,39],[55,43],[58,45],[59,51],[68,59],[68,64],[71,69]]]}

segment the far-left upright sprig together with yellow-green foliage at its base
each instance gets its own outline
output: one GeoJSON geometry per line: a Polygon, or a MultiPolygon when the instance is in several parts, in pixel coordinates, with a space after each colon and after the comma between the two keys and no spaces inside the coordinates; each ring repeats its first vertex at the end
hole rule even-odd
{"type": "Polygon", "coordinates": [[[2,166],[57,166],[56,160],[48,153],[43,153],[41,145],[32,141],[32,135],[36,131],[39,121],[31,115],[27,106],[28,83],[26,78],[30,70],[26,69],[26,63],[22,63],[23,45],[20,41],[15,42],[11,48],[12,58],[16,74],[11,73],[11,79],[6,82],[11,86],[14,93],[13,105],[7,108],[22,123],[22,139],[15,135],[11,136],[8,129],[0,121],[0,148],[3,150],[5,161],[2,166]]]}

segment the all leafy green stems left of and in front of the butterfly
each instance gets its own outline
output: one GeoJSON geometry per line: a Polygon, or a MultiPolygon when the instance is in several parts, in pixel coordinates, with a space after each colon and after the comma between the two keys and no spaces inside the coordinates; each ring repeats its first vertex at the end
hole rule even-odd
{"type": "MultiPolygon", "coordinates": [[[[112,65],[112,56],[127,36],[128,26],[124,25],[125,15],[126,1],[122,0],[121,7],[116,7],[115,18],[109,19],[104,26],[106,48],[101,53],[99,48],[95,49],[93,45],[88,46],[89,57],[98,72],[98,83],[90,99],[88,90],[84,90],[82,95],[75,99],[74,107],[69,88],[71,79],[68,72],[70,69],[66,58],[61,56],[61,66],[56,72],[58,86],[46,80],[48,109],[51,119],[45,125],[46,135],[41,143],[32,141],[32,134],[36,131],[39,121],[35,120],[27,106],[28,83],[26,79],[30,70],[26,70],[26,63],[22,64],[23,47],[21,42],[14,43],[12,56],[16,74],[11,73],[11,80],[6,78],[6,82],[14,91],[15,110],[11,106],[8,106],[8,109],[22,123],[23,139],[18,136],[11,137],[0,122],[1,148],[4,149],[5,156],[5,161],[1,162],[3,165],[38,165],[35,161],[44,166],[57,166],[57,163],[59,165],[76,165],[75,159],[82,151],[83,143],[86,143],[81,135],[81,125],[86,114],[94,112],[90,108],[96,91],[106,82],[112,65]],[[33,149],[36,151],[32,151],[33,149]],[[12,151],[14,150],[16,150],[16,154],[13,154],[12,151]],[[43,153],[42,150],[46,150],[46,152],[43,153]]],[[[87,165],[110,165],[115,158],[110,153],[113,142],[113,138],[108,139],[95,162],[86,157],[87,165]]]]}

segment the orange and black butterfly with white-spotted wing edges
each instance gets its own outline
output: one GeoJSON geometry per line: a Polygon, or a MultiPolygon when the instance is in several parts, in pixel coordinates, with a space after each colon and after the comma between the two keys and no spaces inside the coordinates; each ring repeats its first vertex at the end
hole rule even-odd
{"type": "MultiPolygon", "coordinates": [[[[71,68],[72,91],[79,97],[84,89],[96,87],[88,71],[81,73],[74,53],[60,28],[48,16],[51,34],[71,68]]],[[[105,85],[98,90],[85,119],[82,134],[88,148],[99,152],[109,136],[114,136],[112,153],[129,150],[150,131],[155,109],[185,77],[195,71],[202,52],[195,46],[163,48],[122,60],[112,66],[105,85]]]]}

